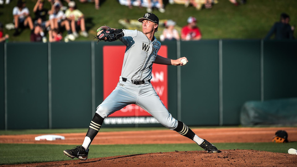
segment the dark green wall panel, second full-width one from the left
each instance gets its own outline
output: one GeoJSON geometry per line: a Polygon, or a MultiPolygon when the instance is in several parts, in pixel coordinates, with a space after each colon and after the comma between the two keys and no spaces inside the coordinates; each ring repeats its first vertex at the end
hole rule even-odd
{"type": "Polygon", "coordinates": [[[91,108],[91,44],[51,43],[52,128],[88,127],[91,108]]]}

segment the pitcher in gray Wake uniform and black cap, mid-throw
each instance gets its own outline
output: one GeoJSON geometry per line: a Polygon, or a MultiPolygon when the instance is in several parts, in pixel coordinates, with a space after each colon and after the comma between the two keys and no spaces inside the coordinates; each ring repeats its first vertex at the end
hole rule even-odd
{"type": "Polygon", "coordinates": [[[182,66],[181,59],[187,58],[182,57],[172,60],[157,55],[161,47],[161,43],[154,36],[154,33],[158,31],[158,17],[153,13],[146,13],[138,21],[142,23],[142,32],[115,29],[107,26],[102,26],[97,30],[98,41],[115,41],[119,39],[127,46],[121,76],[113,92],[97,107],[83,144],[73,149],[64,150],[64,155],[72,159],[76,157],[80,160],[86,160],[89,146],[101,128],[103,120],[129,104],[142,107],[155,117],[159,123],[192,139],[209,153],[221,152],[210,142],[199,138],[186,124],[173,118],[159,99],[151,85],[153,63],[182,66]]]}

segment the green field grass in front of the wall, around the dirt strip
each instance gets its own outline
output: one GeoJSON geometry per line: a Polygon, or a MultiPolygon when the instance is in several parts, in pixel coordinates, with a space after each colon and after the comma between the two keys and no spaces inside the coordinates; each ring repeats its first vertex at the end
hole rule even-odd
{"type": "MultiPolygon", "coordinates": [[[[191,127],[195,128],[195,127],[191,127]]],[[[199,127],[202,128],[202,127],[199,127]]],[[[225,128],[225,127],[224,127],[225,128]]],[[[161,130],[158,128],[104,128],[100,131],[135,131],[135,130],[161,130]]],[[[4,134],[38,134],[38,133],[75,133],[87,131],[83,129],[43,129],[43,130],[14,130],[0,131],[4,134]]],[[[289,148],[297,148],[297,142],[290,143],[214,143],[219,149],[254,149],[270,152],[287,153],[289,148]]],[[[0,144],[0,165],[39,163],[49,161],[71,160],[63,154],[64,149],[71,149],[76,145],[56,144],[0,144]]],[[[151,152],[202,150],[197,144],[116,144],[91,145],[88,158],[109,157],[116,155],[132,155],[151,152]]]]}

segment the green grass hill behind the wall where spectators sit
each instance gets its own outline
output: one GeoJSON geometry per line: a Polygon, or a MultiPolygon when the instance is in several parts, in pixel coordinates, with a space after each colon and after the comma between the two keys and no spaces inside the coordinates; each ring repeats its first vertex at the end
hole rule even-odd
{"type": "MultiPolygon", "coordinates": [[[[28,0],[27,7],[34,17],[33,7],[37,0],[28,0]]],[[[12,9],[16,5],[16,0],[11,1],[9,5],[0,6],[0,21],[4,24],[12,23],[12,9]]],[[[63,1],[64,5],[67,5],[63,1]]],[[[81,4],[77,1],[80,9],[86,18],[86,28],[89,37],[79,37],[77,40],[93,40],[93,35],[99,26],[104,24],[122,28],[119,19],[138,19],[146,13],[145,8],[133,7],[129,9],[119,4],[117,0],[100,1],[101,8],[94,9],[94,3],[81,4]]],[[[164,0],[165,13],[153,10],[159,19],[173,19],[177,25],[182,27],[187,24],[189,16],[195,16],[198,19],[203,39],[261,39],[269,31],[274,22],[279,20],[279,15],[286,12],[291,16],[291,25],[297,23],[297,1],[296,0],[247,0],[247,4],[238,7],[231,4],[228,0],[219,0],[212,9],[202,9],[197,11],[194,7],[185,8],[183,5],[168,4],[164,0]]],[[[47,2],[45,8],[50,9],[47,2]]],[[[14,30],[4,30],[4,33],[10,35],[10,41],[29,41],[29,29],[22,32],[20,36],[12,36],[14,30]]],[[[66,33],[66,32],[64,32],[66,33]]],[[[296,31],[295,31],[296,36],[296,31]]]]}

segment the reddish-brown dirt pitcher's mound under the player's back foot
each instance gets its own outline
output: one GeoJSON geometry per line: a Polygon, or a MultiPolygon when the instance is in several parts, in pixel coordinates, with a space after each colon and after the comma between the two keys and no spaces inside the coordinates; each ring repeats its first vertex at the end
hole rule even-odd
{"type": "Polygon", "coordinates": [[[86,161],[68,160],[48,163],[21,164],[13,166],[297,166],[296,155],[256,150],[222,150],[208,154],[206,151],[176,151],[148,154],[92,158],[86,161]]]}

